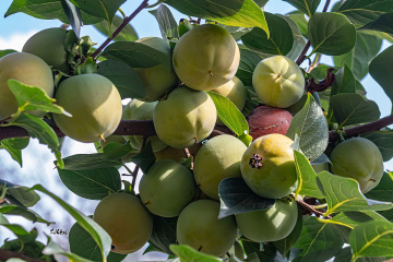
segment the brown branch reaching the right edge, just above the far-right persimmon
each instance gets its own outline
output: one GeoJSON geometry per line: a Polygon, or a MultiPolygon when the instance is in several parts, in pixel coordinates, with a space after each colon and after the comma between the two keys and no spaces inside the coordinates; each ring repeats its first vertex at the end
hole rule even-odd
{"type": "MultiPolygon", "coordinates": [[[[378,131],[390,124],[393,124],[393,115],[381,118],[374,122],[365,123],[358,127],[345,129],[344,132],[346,138],[352,138],[359,134],[366,134],[378,131]]],[[[338,134],[335,131],[329,132],[329,141],[336,141],[337,139],[338,139],[338,134]]]]}

